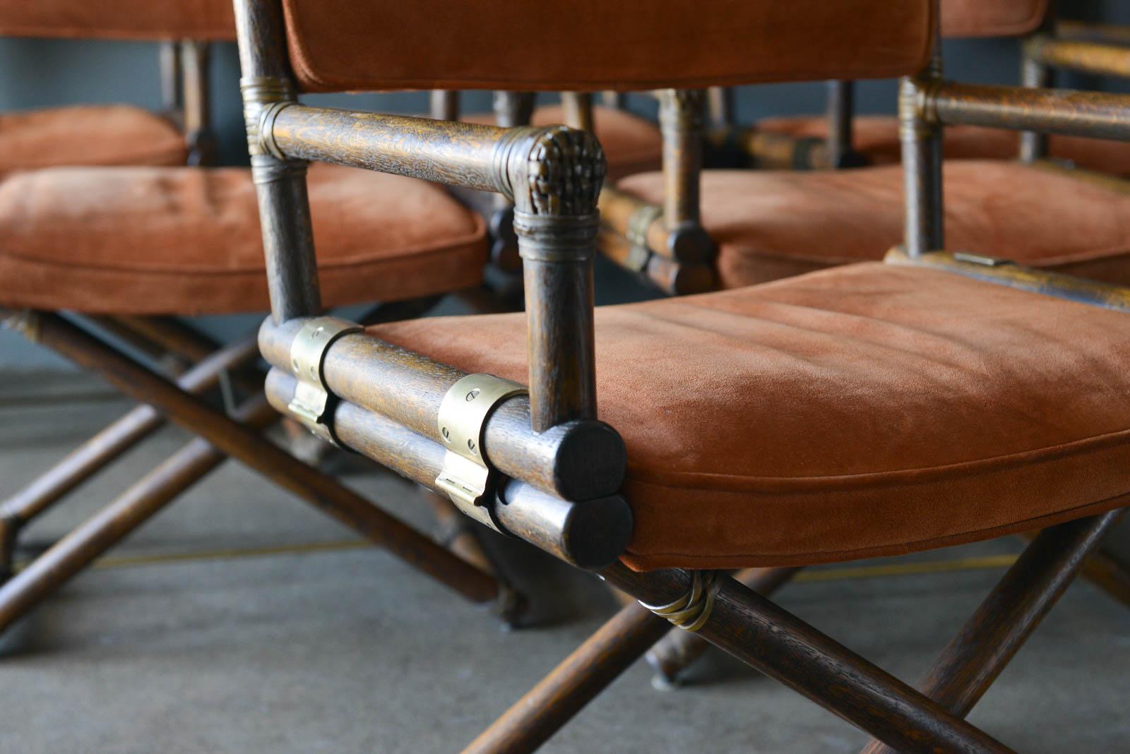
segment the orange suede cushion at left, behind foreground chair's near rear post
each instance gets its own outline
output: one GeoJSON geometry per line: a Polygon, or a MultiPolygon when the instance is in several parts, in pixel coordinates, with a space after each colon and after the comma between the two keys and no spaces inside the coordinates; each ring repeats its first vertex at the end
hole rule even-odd
{"type": "MultiPolygon", "coordinates": [[[[481,218],[434,184],[310,168],[322,300],[398,300],[480,282],[481,218]]],[[[246,168],[47,168],[0,182],[0,306],[119,314],[268,308],[246,168]]]]}

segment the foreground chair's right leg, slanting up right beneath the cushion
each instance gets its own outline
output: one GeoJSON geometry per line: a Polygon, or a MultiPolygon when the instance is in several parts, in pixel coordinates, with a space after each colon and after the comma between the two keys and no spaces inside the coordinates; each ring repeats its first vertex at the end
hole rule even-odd
{"type": "MultiPolygon", "coordinates": [[[[1044,529],[981,603],[919,684],[965,717],[989,690],[1122,517],[1122,510],[1044,529]]],[[[863,754],[896,754],[877,742],[863,754]]]]}

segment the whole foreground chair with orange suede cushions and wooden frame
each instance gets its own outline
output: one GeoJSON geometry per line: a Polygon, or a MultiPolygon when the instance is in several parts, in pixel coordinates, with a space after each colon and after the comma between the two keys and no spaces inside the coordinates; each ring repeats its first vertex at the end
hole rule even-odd
{"type": "MultiPolygon", "coordinates": [[[[272,365],[268,396],[641,602],[468,751],[536,748],[642,654],[658,635],[649,631],[671,622],[899,751],[1008,752],[963,718],[1130,494],[1130,299],[1111,286],[931,251],[941,247],[936,126],[983,116],[988,97],[936,80],[931,2],[723,1],[709,15],[673,0],[646,5],[641,25],[629,3],[575,0],[444,3],[442,14],[377,0],[237,0],[275,272],[259,339],[272,365]],[[625,28],[635,44],[624,44],[625,28]],[[663,44],[671,29],[679,56],[663,44]],[[506,44],[485,54],[473,41],[487,33],[506,44]],[[582,38],[586,54],[572,54],[582,38]],[[906,244],[887,264],[597,310],[603,159],[591,134],[296,99],[298,90],[693,89],[922,70],[904,84],[906,244]],[[524,317],[366,332],[319,317],[305,160],[513,200],[524,317]],[[305,411],[311,403],[321,409],[305,411]],[[1043,421],[1036,406],[1060,420],[1043,421]],[[724,572],[1041,527],[921,691],[724,572]]],[[[1053,109],[1043,93],[994,95],[1025,98],[1033,114],[1053,109]]],[[[1007,124],[1083,135],[1112,128],[1081,107],[1022,121],[1007,124]]]]}

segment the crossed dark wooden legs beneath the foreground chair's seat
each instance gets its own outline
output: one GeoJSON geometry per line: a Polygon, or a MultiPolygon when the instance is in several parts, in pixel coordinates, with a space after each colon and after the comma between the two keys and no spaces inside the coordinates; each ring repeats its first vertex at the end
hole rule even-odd
{"type": "MultiPolygon", "coordinates": [[[[946,647],[918,691],[765,598],[796,569],[746,571],[741,575],[745,584],[725,579],[714,596],[713,612],[694,635],[876,736],[863,754],[1010,752],[965,724],[964,717],[1122,512],[1119,509],[1060,524],[1038,534],[946,647]]],[[[684,571],[633,573],[621,566],[607,569],[602,577],[649,604],[667,604],[687,594],[688,581],[702,578],[684,571]]],[[[669,629],[663,617],[638,605],[625,606],[476,738],[464,754],[537,749],[669,629]]]]}

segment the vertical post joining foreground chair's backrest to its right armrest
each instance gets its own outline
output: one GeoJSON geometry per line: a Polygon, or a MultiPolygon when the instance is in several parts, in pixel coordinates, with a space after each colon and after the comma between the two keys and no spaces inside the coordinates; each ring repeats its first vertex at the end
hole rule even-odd
{"type": "MultiPolygon", "coordinates": [[[[937,12],[937,10],[935,11],[937,12]]],[[[936,27],[940,21],[936,17],[936,27]]],[[[927,94],[941,80],[941,37],[936,36],[927,67],[898,84],[898,137],[906,193],[906,253],[920,256],[945,246],[941,192],[941,124],[924,112],[927,94]]]]}

